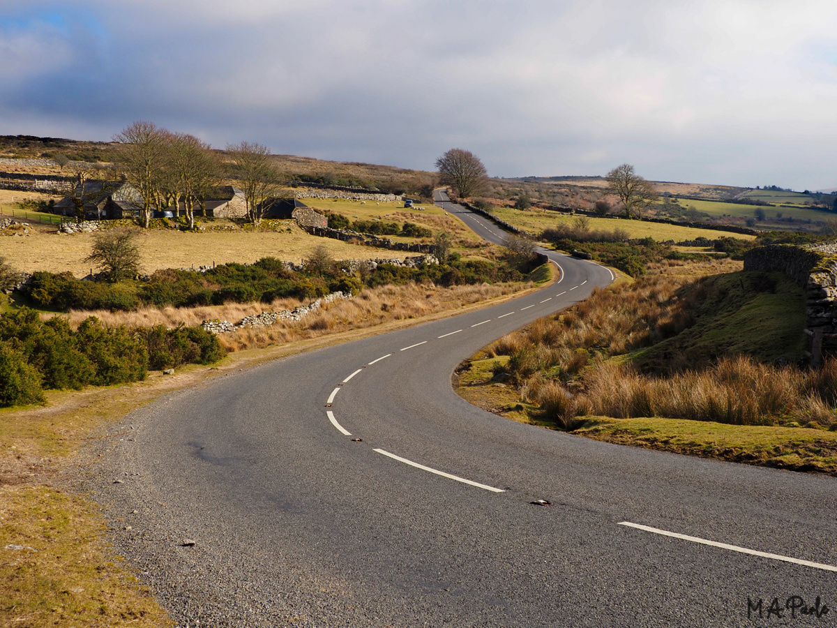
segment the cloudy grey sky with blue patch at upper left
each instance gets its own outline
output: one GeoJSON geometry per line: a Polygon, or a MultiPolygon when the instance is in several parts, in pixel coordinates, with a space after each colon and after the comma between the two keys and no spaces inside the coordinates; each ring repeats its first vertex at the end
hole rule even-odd
{"type": "Polygon", "coordinates": [[[834,0],[0,0],[0,135],[837,187],[834,0]]]}

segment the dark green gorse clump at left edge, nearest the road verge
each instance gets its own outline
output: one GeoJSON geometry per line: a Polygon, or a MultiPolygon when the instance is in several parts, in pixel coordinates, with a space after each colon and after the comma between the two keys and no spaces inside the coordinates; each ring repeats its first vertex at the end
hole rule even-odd
{"type": "Polygon", "coordinates": [[[73,331],[22,308],[0,317],[0,405],[39,403],[42,389],[81,389],[144,379],[151,368],[213,363],[226,352],[200,327],[129,330],[89,317],[73,331]]]}

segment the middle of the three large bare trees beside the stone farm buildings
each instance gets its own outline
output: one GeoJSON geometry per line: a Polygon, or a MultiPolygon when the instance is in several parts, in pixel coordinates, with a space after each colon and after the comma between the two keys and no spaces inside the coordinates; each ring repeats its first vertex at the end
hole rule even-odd
{"type": "Polygon", "coordinates": [[[194,229],[195,205],[201,204],[209,191],[220,183],[218,160],[208,144],[195,136],[177,133],[171,138],[168,165],[174,182],[177,215],[180,215],[182,197],[189,229],[194,229]]]}

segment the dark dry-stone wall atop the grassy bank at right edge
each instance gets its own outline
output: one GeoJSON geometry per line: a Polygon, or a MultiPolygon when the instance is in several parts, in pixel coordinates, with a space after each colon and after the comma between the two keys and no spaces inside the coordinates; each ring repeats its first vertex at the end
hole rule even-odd
{"type": "Polygon", "coordinates": [[[760,246],[744,254],[744,270],[783,272],[802,287],[811,364],[837,356],[837,244],[760,246]]]}

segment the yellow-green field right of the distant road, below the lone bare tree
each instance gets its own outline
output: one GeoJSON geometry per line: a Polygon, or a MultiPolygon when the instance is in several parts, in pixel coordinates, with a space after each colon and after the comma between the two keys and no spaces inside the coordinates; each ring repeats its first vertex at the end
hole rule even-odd
{"type": "MultiPolygon", "coordinates": [[[[554,227],[557,224],[573,224],[578,217],[557,214],[545,210],[521,211],[511,208],[494,208],[493,213],[497,218],[513,224],[518,229],[525,229],[532,234],[540,234],[544,229],[554,227]]],[[[644,220],[621,220],[612,218],[590,217],[590,229],[613,230],[624,229],[628,232],[629,238],[654,238],[657,241],[673,239],[680,241],[684,239],[707,239],[716,238],[741,238],[754,239],[753,235],[733,234],[728,231],[716,229],[696,229],[694,227],[681,227],[677,224],[650,223],[644,220]]]]}

